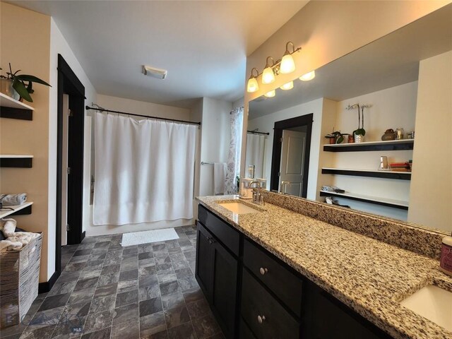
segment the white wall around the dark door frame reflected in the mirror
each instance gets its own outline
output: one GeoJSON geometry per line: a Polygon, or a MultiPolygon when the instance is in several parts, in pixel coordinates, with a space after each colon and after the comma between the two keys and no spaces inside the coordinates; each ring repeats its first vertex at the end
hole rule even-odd
{"type": "Polygon", "coordinates": [[[323,98],[307,102],[302,105],[283,109],[281,111],[258,117],[248,121],[248,129],[259,129],[268,132],[268,143],[265,150],[265,163],[263,165],[263,178],[267,179],[267,189],[270,188],[271,157],[273,148],[273,127],[276,121],[300,117],[306,114],[314,114],[311,132],[311,153],[309,155],[309,179],[307,198],[316,198],[316,187],[319,168],[319,151],[321,145],[323,98]]]}

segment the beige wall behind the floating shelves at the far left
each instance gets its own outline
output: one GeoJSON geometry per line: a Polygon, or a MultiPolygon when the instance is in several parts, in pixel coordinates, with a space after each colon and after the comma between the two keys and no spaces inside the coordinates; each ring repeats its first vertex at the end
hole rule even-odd
{"type": "MultiPolygon", "coordinates": [[[[11,62],[13,69],[49,81],[50,17],[10,4],[0,3],[0,66],[4,71],[11,62]]],[[[2,73],[4,73],[2,71],[2,73]]],[[[57,86],[57,83],[51,83],[57,86]]],[[[49,172],[49,88],[33,86],[35,107],[33,120],[0,120],[0,152],[2,154],[33,155],[32,168],[1,168],[1,193],[28,193],[33,201],[32,214],[15,217],[18,227],[32,232],[44,232],[40,282],[49,278],[47,256],[50,249],[48,220],[49,172]]],[[[52,225],[54,227],[54,225],[52,225]]],[[[51,266],[54,263],[50,263],[51,266]]]]}

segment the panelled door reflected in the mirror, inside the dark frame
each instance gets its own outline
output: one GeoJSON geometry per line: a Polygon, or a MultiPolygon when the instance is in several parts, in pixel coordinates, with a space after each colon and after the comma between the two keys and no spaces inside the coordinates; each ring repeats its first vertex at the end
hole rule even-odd
{"type": "Polygon", "coordinates": [[[283,180],[289,181],[285,193],[292,196],[302,196],[305,143],[306,132],[283,131],[280,187],[283,180]]]}

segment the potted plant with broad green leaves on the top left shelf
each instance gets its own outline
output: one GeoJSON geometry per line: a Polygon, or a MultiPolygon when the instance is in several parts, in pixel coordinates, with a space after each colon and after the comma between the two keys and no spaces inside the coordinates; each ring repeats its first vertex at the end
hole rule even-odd
{"type": "Polygon", "coordinates": [[[20,69],[13,72],[10,63],[9,72],[6,72],[6,76],[0,74],[1,93],[4,93],[16,100],[21,100],[23,98],[23,100],[33,102],[30,96],[30,94],[35,92],[35,90],[33,90],[33,83],[40,83],[42,85],[52,87],[36,76],[31,76],[30,74],[18,74],[19,72],[20,69]]]}

